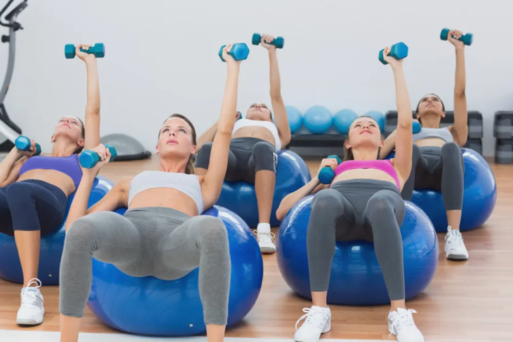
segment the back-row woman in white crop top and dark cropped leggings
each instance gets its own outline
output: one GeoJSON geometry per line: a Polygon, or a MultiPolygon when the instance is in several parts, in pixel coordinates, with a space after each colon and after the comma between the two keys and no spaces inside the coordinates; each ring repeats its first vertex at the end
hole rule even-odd
{"type": "MultiPolygon", "coordinates": [[[[261,44],[269,51],[271,105],[274,109],[276,124],[274,125],[272,122],[272,113],[266,105],[252,104],[246,113],[246,118],[237,120],[233,128],[228,168],[225,175],[226,180],[232,182],[244,180],[244,182],[255,186],[259,212],[257,239],[262,253],[274,253],[276,251],[269,221],[278,164],[277,151],[290,142],[287,111],[280,92],[280,72],[278,70],[276,47],[268,44],[273,39],[272,36],[264,34],[262,35],[261,44]]],[[[239,114],[237,114],[237,117],[239,117],[239,114]]],[[[217,129],[218,123],[215,123],[198,138],[199,152],[194,165],[197,175],[204,175],[209,168],[210,151],[212,149],[212,143],[210,142],[217,129]]]]}

